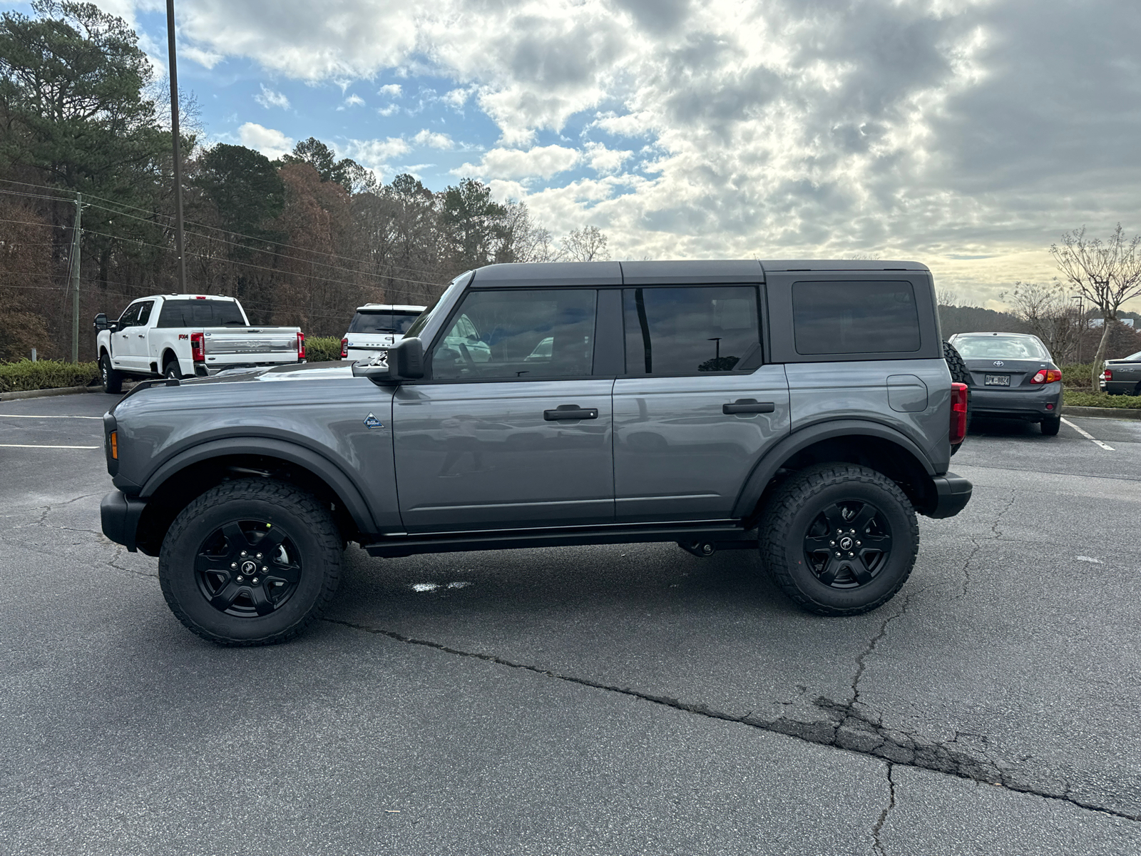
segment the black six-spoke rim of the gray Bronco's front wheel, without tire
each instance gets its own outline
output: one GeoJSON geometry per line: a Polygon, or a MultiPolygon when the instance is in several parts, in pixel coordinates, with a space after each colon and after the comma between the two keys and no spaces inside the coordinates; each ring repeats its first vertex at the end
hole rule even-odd
{"type": "Polygon", "coordinates": [[[227,615],[268,615],[284,606],[301,581],[300,550],[281,526],[235,520],[211,532],[199,547],[199,591],[227,615]]]}

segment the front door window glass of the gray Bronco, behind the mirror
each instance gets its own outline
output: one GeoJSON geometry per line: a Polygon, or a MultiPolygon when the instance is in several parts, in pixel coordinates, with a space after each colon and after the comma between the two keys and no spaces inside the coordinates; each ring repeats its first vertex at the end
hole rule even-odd
{"type": "Polygon", "coordinates": [[[432,378],[578,378],[591,372],[592,289],[474,291],[432,349],[432,378]]]}

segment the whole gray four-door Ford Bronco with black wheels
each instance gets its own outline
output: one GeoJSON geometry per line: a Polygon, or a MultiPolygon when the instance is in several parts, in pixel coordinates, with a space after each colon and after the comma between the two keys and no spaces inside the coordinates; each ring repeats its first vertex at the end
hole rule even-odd
{"type": "Polygon", "coordinates": [[[798,605],[852,615],[907,580],[916,512],[971,496],[945,354],[916,263],[492,265],[387,360],[136,387],[104,417],[103,531],[224,645],[300,632],[349,541],[753,549],[798,605]]]}

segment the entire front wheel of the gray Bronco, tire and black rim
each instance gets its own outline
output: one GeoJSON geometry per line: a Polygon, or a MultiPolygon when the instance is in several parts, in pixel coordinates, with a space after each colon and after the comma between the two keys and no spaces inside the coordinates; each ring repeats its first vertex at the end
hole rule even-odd
{"type": "Polygon", "coordinates": [[[219,645],[272,645],[329,604],[341,535],[327,508],[283,482],[213,487],[175,518],[159,556],[163,597],[187,628],[219,645]]]}

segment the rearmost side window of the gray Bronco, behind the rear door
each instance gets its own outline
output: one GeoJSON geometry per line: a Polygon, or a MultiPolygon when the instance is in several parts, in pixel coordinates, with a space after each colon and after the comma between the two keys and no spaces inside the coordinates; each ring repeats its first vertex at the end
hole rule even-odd
{"type": "Polygon", "coordinates": [[[798,354],[920,349],[920,317],[909,282],[796,282],[792,310],[798,354]]]}

